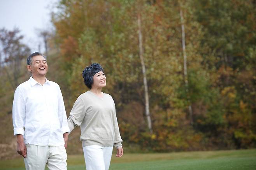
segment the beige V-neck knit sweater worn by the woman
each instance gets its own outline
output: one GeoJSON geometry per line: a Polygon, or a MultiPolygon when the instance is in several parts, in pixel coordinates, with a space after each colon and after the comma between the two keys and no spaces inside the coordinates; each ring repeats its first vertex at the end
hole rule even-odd
{"type": "Polygon", "coordinates": [[[103,93],[103,97],[90,91],[81,94],[68,117],[70,132],[77,126],[81,128],[82,147],[122,146],[115,103],[109,94],[103,93]]]}

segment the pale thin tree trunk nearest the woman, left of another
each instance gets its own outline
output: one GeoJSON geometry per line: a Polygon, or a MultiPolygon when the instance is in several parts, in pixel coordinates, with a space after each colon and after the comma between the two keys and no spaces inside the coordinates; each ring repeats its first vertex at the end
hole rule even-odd
{"type": "Polygon", "coordinates": [[[140,21],[140,14],[138,14],[138,35],[139,35],[139,53],[140,53],[140,62],[142,66],[142,74],[143,74],[143,83],[144,83],[144,91],[145,91],[145,107],[146,107],[146,118],[147,118],[147,124],[150,133],[153,132],[152,125],[151,125],[151,118],[150,118],[150,112],[149,112],[149,93],[147,88],[147,75],[146,75],[146,67],[144,63],[143,58],[143,48],[142,48],[142,33],[141,33],[141,21],[140,21]]]}

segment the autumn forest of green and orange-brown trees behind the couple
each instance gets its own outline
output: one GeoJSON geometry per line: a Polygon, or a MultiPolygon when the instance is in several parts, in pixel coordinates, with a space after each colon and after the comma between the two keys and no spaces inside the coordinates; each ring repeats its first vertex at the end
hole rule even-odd
{"type": "MultiPolygon", "coordinates": [[[[100,63],[129,152],[256,147],[255,0],[61,0],[42,31],[67,116],[100,63]]],[[[0,29],[1,144],[12,147],[12,101],[34,52],[18,29],[0,29]]],[[[80,130],[69,153],[81,152],[80,130]]],[[[81,152],[82,153],[82,152],[81,152]]]]}

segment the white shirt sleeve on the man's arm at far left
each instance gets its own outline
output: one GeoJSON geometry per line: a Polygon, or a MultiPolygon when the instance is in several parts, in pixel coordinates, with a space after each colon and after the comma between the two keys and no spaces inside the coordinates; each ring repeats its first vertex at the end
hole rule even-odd
{"type": "Polygon", "coordinates": [[[24,135],[24,120],[25,120],[26,104],[21,87],[17,87],[14,92],[14,99],[12,105],[12,123],[14,135],[24,135]]]}

